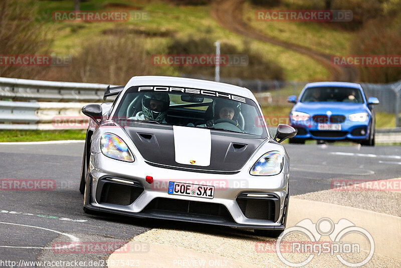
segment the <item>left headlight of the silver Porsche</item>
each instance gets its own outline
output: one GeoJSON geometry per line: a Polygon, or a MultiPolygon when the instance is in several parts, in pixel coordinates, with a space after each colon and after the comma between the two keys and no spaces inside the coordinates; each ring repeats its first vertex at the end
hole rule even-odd
{"type": "Polygon", "coordinates": [[[103,155],[125,162],[134,162],[134,157],[128,149],[128,146],[117,135],[104,133],[100,139],[100,150],[103,155]]]}

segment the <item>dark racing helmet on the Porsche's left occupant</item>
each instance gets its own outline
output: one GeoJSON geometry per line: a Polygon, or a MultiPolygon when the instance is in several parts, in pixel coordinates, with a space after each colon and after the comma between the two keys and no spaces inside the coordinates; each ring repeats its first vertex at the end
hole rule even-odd
{"type": "Polygon", "coordinates": [[[142,97],[142,112],[143,115],[150,120],[161,122],[167,115],[168,107],[170,106],[170,97],[167,92],[148,92],[142,97]],[[163,103],[161,111],[150,109],[150,101],[157,100],[163,103]]]}

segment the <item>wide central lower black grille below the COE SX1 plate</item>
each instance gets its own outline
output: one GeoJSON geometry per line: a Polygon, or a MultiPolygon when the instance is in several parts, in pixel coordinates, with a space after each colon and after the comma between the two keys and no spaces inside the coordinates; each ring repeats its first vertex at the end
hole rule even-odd
{"type": "Polygon", "coordinates": [[[153,199],[144,208],[144,211],[148,209],[167,210],[174,212],[193,213],[193,214],[202,214],[211,216],[230,216],[230,213],[228,212],[227,208],[221,204],[169,199],[161,197],[153,199]]]}

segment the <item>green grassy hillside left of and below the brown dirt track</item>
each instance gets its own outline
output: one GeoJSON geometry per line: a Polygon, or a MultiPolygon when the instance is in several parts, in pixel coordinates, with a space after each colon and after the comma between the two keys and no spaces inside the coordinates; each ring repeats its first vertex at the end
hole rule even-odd
{"type": "MultiPolygon", "coordinates": [[[[52,12],[57,10],[72,10],[73,2],[40,1],[39,12],[41,18],[49,26],[51,35],[55,38],[52,52],[61,55],[78,55],[82,46],[93,40],[105,37],[102,31],[107,29],[139,29],[143,32],[170,32],[177,38],[208,36],[216,41],[228,42],[239,49],[244,47],[244,41],[254,53],[258,53],[265,60],[279,64],[284,70],[286,80],[326,80],[329,72],[325,67],[311,58],[284,49],[279,46],[245,38],[232,33],[218,24],[211,16],[211,6],[177,6],[160,1],[128,0],[89,0],[81,3],[81,10],[123,10],[124,8],[110,8],[114,3],[125,4],[130,8],[149,13],[149,20],[129,22],[53,22],[52,12]]],[[[143,39],[149,54],[166,53],[167,44],[172,37],[150,37],[143,39]]],[[[224,48],[222,48],[223,50],[224,48]]],[[[214,51],[205,51],[206,54],[214,51]]],[[[161,75],[177,75],[173,68],[159,67],[161,75]]],[[[199,67],[202,68],[202,67],[199,67]]]]}

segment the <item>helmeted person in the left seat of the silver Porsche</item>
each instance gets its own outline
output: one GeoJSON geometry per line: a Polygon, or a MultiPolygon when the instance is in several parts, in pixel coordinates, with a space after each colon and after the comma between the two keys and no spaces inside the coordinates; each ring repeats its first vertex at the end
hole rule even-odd
{"type": "Polygon", "coordinates": [[[170,105],[170,97],[166,92],[148,92],[142,97],[142,111],[128,119],[151,120],[167,123],[165,117],[170,105]]]}

